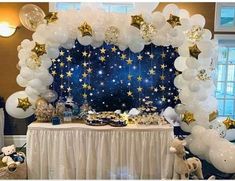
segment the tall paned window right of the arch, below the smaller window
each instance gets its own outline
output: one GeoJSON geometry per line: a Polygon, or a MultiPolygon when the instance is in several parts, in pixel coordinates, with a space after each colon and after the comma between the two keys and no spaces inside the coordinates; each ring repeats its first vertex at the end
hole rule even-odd
{"type": "Polygon", "coordinates": [[[216,98],[220,116],[235,118],[235,35],[215,35],[219,43],[216,98]]]}

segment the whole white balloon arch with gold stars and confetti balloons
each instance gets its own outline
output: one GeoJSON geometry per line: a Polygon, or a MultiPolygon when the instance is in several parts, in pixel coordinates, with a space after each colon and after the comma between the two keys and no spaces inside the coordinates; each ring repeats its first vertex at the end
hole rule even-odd
{"type": "MultiPolygon", "coordinates": [[[[179,90],[181,104],[175,107],[183,115],[181,128],[192,134],[187,137],[190,150],[227,173],[235,172],[235,146],[220,137],[214,129],[207,129],[209,121],[216,118],[217,101],[213,96],[213,60],[217,45],[212,34],[204,29],[205,18],[189,16],[185,9],[174,4],[162,12],[135,10],[128,14],[106,13],[94,6],[81,10],[49,13],[38,26],[32,40],[23,40],[18,57],[20,73],[16,78],[24,91],[12,94],[6,102],[7,112],[16,118],[26,118],[34,113],[37,98],[47,93],[53,83],[48,69],[59,56],[59,48],[70,49],[77,39],[80,44],[99,47],[105,41],[121,51],[129,48],[138,53],[144,46],[178,47],[179,57],[175,68],[182,72],[174,80],[179,90]]],[[[25,23],[26,26],[30,24],[25,23]]]]}

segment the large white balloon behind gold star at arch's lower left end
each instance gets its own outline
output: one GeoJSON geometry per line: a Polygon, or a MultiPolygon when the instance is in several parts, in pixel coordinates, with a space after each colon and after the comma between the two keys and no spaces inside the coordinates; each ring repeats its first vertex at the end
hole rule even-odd
{"type": "Polygon", "coordinates": [[[10,116],[18,119],[23,119],[33,115],[34,113],[33,106],[29,106],[29,108],[27,108],[25,111],[22,108],[17,107],[18,99],[24,99],[24,98],[29,98],[29,102],[32,105],[35,102],[25,93],[25,91],[15,92],[14,94],[12,94],[7,98],[5,108],[10,116]]]}

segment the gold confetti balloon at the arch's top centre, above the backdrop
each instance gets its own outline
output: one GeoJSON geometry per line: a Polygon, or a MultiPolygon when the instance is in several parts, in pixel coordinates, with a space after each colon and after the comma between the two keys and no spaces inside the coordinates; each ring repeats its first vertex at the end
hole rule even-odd
{"type": "Polygon", "coordinates": [[[116,26],[110,26],[105,31],[105,42],[107,44],[117,44],[120,30],[116,26]]]}

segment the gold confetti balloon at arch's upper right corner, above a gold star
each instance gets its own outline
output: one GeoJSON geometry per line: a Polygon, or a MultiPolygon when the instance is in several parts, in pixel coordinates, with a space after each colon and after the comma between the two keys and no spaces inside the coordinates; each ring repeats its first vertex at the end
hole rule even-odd
{"type": "Polygon", "coordinates": [[[186,33],[186,35],[187,35],[189,40],[191,40],[193,42],[197,42],[197,41],[200,41],[202,39],[203,33],[204,33],[204,29],[201,26],[193,25],[191,30],[189,30],[186,33]]]}

